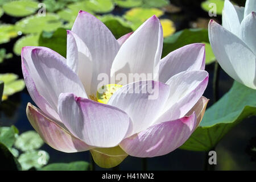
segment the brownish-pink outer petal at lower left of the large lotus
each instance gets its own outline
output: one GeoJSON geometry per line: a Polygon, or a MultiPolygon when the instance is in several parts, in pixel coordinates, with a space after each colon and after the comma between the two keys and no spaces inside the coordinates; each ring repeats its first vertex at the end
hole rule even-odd
{"type": "Polygon", "coordinates": [[[94,148],[74,137],[30,103],[27,105],[27,117],[44,142],[56,150],[80,152],[94,148]]]}

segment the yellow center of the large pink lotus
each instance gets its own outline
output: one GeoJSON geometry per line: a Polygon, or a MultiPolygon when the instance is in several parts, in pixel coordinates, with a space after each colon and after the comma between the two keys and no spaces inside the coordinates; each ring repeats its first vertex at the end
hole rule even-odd
{"type": "Polygon", "coordinates": [[[116,92],[122,85],[118,84],[108,84],[102,86],[100,89],[97,90],[96,97],[89,96],[89,98],[93,101],[101,102],[103,104],[108,104],[110,97],[116,92]]]}

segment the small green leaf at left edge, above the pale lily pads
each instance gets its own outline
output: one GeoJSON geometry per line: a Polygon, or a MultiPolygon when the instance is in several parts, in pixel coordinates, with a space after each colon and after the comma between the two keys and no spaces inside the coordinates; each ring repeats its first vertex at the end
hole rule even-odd
{"type": "Polygon", "coordinates": [[[17,131],[15,126],[0,127],[0,142],[5,144],[7,148],[11,148],[16,140],[17,131]]]}

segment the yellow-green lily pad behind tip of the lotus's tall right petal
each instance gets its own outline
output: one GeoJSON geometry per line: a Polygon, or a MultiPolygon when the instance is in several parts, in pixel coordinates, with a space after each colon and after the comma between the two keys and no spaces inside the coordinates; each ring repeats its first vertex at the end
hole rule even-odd
{"type": "Polygon", "coordinates": [[[135,7],[133,9],[130,9],[129,11],[126,11],[123,17],[129,20],[132,23],[131,28],[133,28],[133,30],[136,30],[139,26],[141,26],[144,21],[146,21],[151,16],[156,15],[157,17],[159,17],[163,14],[164,12],[159,9],[135,7]]]}

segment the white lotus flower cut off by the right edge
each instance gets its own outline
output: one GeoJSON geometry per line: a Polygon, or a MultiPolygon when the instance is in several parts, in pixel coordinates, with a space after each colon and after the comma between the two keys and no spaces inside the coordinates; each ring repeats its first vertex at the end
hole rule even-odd
{"type": "Polygon", "coordinates": [[[222,26],[210,20],[209,40],[221,68],[234,80],[256,89],[256,1],[245,7],[225,0],[222,26]]]}

